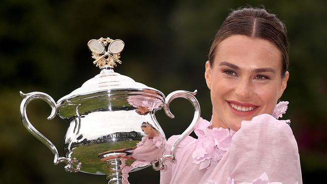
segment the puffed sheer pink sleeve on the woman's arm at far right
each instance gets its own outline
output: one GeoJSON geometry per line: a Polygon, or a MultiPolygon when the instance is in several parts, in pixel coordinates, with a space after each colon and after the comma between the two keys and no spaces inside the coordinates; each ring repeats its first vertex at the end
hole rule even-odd
{"type": "Polygon", "coordinates": [[[227,183],[302,183],[292,130],[286,121],[268,114],[242,122],[232,138],[227,162],[227,183]]]}

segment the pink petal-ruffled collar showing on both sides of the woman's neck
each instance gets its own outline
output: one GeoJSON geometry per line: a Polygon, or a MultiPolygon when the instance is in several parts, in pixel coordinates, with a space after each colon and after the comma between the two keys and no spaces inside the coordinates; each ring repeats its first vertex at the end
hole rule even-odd
{"type": "MultiPolygon", "coordinates": [[[[272,116],[276,119],[283,117],[286,113],[288,102],[280,102],[276,105],[272,116]]],[[[200,118],[194,130],[198,139],[195,142],[193,151],[193,163],[200,164],[204,169],[210,166],[211,162],[217,162],[229,150],[231,138],[235,131],[225,128],[212,128],[212,123],[200,118]]]]}

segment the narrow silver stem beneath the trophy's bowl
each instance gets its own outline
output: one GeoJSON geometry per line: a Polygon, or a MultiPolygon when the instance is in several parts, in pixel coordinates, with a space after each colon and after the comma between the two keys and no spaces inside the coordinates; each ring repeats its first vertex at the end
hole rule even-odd
{"type": "Polygon", "coordinates": [[[112,159],[107,161],[108,168],[113,170],[110,174],[107,175],[108,184],[130,184],[128,182],[128,171],[124,172],[124,168],[121,166],[125,165],[124,159],[112,159]]]}

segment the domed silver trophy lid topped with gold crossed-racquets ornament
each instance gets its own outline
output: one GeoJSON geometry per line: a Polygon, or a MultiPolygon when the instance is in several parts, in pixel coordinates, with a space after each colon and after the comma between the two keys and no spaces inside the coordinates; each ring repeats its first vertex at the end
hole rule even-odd
{"type": "MultiPolygon", "coordinates": [[[[64,109],[67,106],[80,105],[85,99],[103,98],[105,96],[112,96],[113,94],[151,96],[161,102],[165,102],[165,95],[161,91],[136,82],[128,76],[114,72],[114,67],[117,66],[117,63],[122,63],[119,60],[120,52],[124,48],[124,42],[122,40],[112,40],[110,38],[93,39],[89,41],[88,46],[92,51],[92,58],[95,59],[93,63],[101,71],[93,78],[87,80],[79,88],[58,100],[57,106],[60,115],[62,115],[60,112],[65,111],[64,109]],[[106,51],[105,46],[108,44],[108,51],[106,51]]],[[[97,99],[94,102],[96,103],[97,99]]],[[[72,115],[71,113],[69,114],[72,115]]],[[[64,117],[67,118],[68,116],[64,117]]]]}

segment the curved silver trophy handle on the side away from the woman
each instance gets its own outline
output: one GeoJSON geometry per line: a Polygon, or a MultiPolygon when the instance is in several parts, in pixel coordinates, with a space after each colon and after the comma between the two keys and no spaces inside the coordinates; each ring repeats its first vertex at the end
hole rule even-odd
{"type": "Polygon", "coordinates": [[[32,93],[24,94],[22,91],[20,91],[20,94],[21,94],[21,97],[24,98],[22,103],[21,103],[20,114],[21,114],[21,118],[22,118],[23,125],[25,126],[25,128],[34,137],[39,139],[39,141],[41,141],[43,144],[45,144],[51,150],[51,152],[54,154],[53,163],[55,165],[58,164],[58,163],[64,162],[64,163],[67,164],[65,166],[66,171],[68,171],[68,172],[78,172],[79,169],[80,169],[80,164],[81,163],[78,162],[75,158],[59,157],[58,156],[59,155],[58,150],[54,146],[54,144],[48,138],[46,138],[43,134],[41,134],[38,130],[36,130],[36,128],[34,128],[34,126],[30,123],[30,121],[27,118],[27,113],[26,113],[27,105],[33,100],[41,99],[41,100],[45,101],[46,103],[48,103],[49,106],[52,109],[51,114],[48,117],[48,120],[53,119],[56,116],[57,109],[56,109],[56,103],[54,102],[52,97],[50,97],[49,95],[47,95],[45,93],[41,93],[41,92],[32,92],[32,93]]]}

